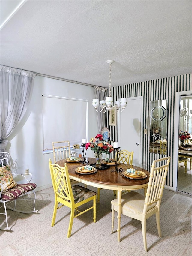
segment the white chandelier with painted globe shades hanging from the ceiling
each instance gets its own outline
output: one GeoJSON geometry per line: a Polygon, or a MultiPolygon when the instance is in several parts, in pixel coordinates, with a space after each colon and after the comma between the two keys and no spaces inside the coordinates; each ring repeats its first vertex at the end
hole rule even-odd
{"type": "Polygon", "coordinates": [[[101,111],[103,111],[103,113],[105,113],[107,110],[110,112],[112,109],[115,110],[115,112],[123,112],[123,110],[125,109],[125,107],[127,106],[127,99],[126,98],[122,98],[120,101],[115,101],[114,106],[113,105],[113,98],[111,97],[111,64],[114,62],[114,60],[107,60],[107,63],[110,64],[110,73],[109,73],[109,97],[107,97],[104,100],[99,102],[99,99],[93,99],[92,101],[92,105],[93,107],[95,107],[95,110],[99,113],[101,111]],[[98,111],[97,108],[98,106],[101,107],[101,111],[98,111]],[[122,107],[122,110],[121,110],[122,107]]]}

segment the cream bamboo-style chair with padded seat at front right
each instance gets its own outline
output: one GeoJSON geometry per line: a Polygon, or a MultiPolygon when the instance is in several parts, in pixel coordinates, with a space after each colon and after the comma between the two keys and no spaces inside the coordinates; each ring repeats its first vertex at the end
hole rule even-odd
{"type": "MultiPolygon", "coordinates": [[[[158,228],[158,235],[161,238],[160,227],[160,205],[163,196],[163,190],[165,180],[167,177],[167,171],[170,163],[170,157],[154,160],[149,176],[149,183],[147,187],[146,196],[135,191],[131,191],[122,196],[121,213],[130,218],[134,218],[141,221],[144,249],[147,251],[146,240],[146,220],[153,214],[156,214],[156,222],[158,228]],[[167,160],[167,163],[165,161],[167,160]],[[159,167],[156,164],[160,163],[159,167]],[[165,163],[165,164],[164,164],[165,163]]],[[[112,209],[112,229],[114,228],[114,215],[117,211],[118,204],[117,199],[111,201],[112,209]]],[[[165,220],[166,221],[166,220],[165,220]]]]}

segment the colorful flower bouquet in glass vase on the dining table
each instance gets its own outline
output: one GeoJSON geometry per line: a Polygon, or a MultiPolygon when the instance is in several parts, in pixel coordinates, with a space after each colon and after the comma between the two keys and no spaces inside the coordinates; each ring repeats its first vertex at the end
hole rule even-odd
{"type": "Polygon", "coordinates": [[[103,135],[97,134],[95,138],[91,138],[88,143],[85,145],[85,149],[90,147],[95,154],[104,153],[110,154],[113,151],[113,146],[109,142],[105,141],[103,135]]]}

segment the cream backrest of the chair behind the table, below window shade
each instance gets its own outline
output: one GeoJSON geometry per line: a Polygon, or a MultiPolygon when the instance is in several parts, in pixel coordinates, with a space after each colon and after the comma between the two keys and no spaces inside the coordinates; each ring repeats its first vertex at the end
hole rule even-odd
{"type": "Polygon", "coordinates": [[[70,156],[70,143],[66,141],[52,142],[54,162],[70,156]]]}

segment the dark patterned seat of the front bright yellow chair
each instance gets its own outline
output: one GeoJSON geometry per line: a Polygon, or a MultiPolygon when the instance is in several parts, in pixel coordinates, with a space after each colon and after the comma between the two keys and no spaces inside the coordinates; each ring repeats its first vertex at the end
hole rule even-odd
{"type": "Polygon", "coordinates": [[[79,203],[89,197],[95,196],[97,193],[88,189],[81,187],[79,185],[75,185],[72,187],[73,197],[75,200],[75,203],[79,203]]]}

